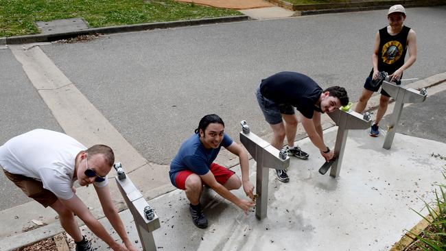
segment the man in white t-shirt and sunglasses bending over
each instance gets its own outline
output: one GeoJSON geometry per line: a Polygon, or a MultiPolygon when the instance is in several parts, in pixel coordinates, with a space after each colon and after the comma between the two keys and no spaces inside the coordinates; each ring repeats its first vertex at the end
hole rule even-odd
{"type": "Polygon", "coordinates": [[[58,213],[60,224],[76,243],[76,251],[93,248],[82,236],[74,215],[78,215],[113,250],[137,250],[132,246],[110,196],[106,175],[114,162],[113,150],[106,145],[86,149],[66,134],[43,129],[16,136],[0,147],[0,166],[5,175],[28,197],[58,213]],[[82,187],[94,185],[104,215],[125,246],[110,237],[75,195],[75,180],[82,187]]]}

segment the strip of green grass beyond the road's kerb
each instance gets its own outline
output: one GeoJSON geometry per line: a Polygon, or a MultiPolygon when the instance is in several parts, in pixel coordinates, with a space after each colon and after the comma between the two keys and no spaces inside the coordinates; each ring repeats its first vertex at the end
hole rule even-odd
{"type": "Polygon", "coordinates": [[[89,27],[107,27],[240,15],[172,0],[0,0],[0,37],[37,34],[35,21],[82,17],[89,27]]]}

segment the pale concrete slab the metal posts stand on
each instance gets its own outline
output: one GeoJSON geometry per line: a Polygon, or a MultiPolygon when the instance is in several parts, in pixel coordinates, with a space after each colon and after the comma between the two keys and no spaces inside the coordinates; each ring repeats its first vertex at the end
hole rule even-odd
{"type": "MultiPolygon", "coordinates": [[[[336,131],[325,131],[330,144],[336,131]]],[[[420,221],[410,208],[426,214],[423,200],[431,202],[437,182],[444,183],[446,161],[432,153],[446,152],[445,143],[397,134],[392,149],[384,150],[384,136],[350,130],[339,178],[318,173],[323,160],[309,139],[297,143],[310,158],[292,157],[287,184],[270,171],[268,217],[261,221],[211,190],[202,200],[209,220],[206,230],[192,224],[183,191],[150,200],[161,221],[154,231],[158,250],[388,250],[420,221]]],[[[255,163],[250,164],[255,180],[255,163]]],[[[235,170],[239,174],[238,166],[235,170]]],[[[245,197],[242,189],[235,193],[245,197]]],[[[124,211],[121,216],[137,241],[131,214],[124,211]]],[[[97,250],[107,250],[86,228],[84,234],[97,250]]]]}

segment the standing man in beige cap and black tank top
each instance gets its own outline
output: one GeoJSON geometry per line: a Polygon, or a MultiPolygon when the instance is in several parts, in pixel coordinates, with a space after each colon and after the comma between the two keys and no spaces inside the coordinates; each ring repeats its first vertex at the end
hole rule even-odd
{"type": "MultiPolygon", "coordinates": [[[[379,72],[386,71],[390,75],[392,82],[399,82],[403,71],[408,69],[416,60],[416,34],[413,29],[403,25],[406,20],[406,10],[402,5],[393,5],[388,10],[387,19],[389,25],[379,29],[375,38],[375,48],[373,49],[372,62],[373,69],[366,78],[364,90],[360,100],[357,102],[355,112],[363,112],[367,106],[368,99],[375,91],[379,90],[381,83],[375,84],[379,72]],[[404,62],[406,52],[409,51],[409,59],[404,62]]],[[[387,110],[390,95],[381,90],[379,98],[379,108],[375,123],[373,123],[370,136],[378,136],[378,123],[387,110]]]]}

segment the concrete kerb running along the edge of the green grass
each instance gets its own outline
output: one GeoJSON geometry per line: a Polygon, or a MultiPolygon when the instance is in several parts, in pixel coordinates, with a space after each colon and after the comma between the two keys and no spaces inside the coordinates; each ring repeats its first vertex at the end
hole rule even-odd
{"type": "Polygon", "coordinates": [[[224,16],[212,19],[193,19],[186,21],[171,21],[171,22],[159,22],[159,23],[141,23],[137,25],[119,25],[111,27],[100,27],[91,29],[82,29],[75,32],[61,32],[56,34],[36,34],[27,36],[10,36],[6,38],[0,38],[0,45],[17,45],[25,43],[40,43],[40,42],[51,42],[61,39],[74,38],[76,36],[82,35],[93,35],[93,34],[113,34],[121,32],[140,32],[148,29],[166,29],[172,27],[184,27],[192,25],[206,25],[211,23],[228,23],[237,21],[247,21],[250,20],[249,16],[224,16]]]}

